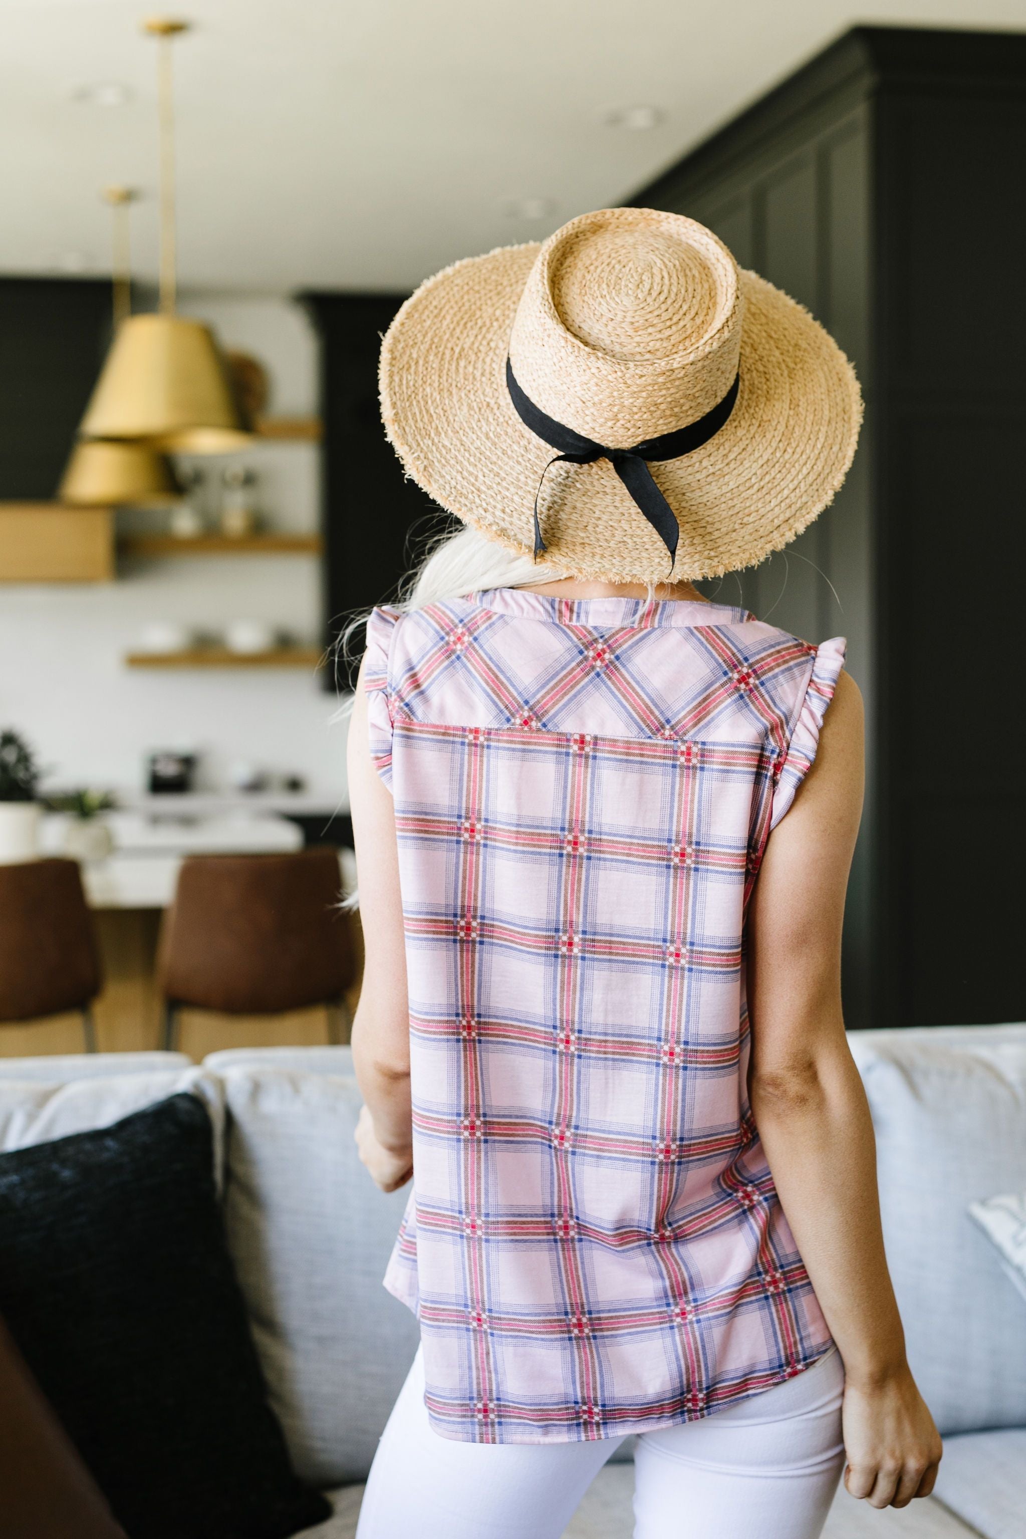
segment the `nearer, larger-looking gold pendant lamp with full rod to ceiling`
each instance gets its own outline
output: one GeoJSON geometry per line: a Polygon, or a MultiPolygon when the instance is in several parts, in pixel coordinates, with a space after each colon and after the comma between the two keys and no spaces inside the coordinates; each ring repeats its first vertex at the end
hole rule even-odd
{"type": "Polygon", "coordinates": [[[158,449],[228,454],[251,436],[209,326],[175,314],[174,97],[171,46],[186,22],[143,23],[157,38],[160,105],[160,309],[122,322],[82,419],[86,439],[149,440],[158,449]]]}

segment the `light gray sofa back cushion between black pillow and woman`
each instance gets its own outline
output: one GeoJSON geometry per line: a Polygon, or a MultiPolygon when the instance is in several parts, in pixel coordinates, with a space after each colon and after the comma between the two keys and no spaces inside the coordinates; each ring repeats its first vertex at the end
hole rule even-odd
{"type": "Polygon", "coordinates": [[[206,1068],[229,1113],[228,1240],[294,1468],[317,1485],[360,1481],[418,1342],[381,1287],[408,1191],[385,1196],[355,1157],[348,1050],[215,1054],[206,1068]]]}

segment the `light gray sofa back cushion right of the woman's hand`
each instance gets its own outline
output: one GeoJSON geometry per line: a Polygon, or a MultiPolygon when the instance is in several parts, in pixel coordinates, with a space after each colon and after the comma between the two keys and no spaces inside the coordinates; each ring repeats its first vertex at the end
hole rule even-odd
{"type": "Polygon", "coordinates": [[[849,1037],[877,1131],[888,1262],[941,1433],[1026,1424],[1026,1304],[969,1203],[1026,1187],[1026,1027],[849,1037]]]}

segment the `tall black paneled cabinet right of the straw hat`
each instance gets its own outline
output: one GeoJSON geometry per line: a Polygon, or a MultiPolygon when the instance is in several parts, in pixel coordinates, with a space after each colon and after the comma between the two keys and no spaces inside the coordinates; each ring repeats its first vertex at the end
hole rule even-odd
{"type": "Polygon", "coordinates": [[[1026,35],[855,28],[632,199],[808,305],[866,394],[834,506],[721,586],[849,639],[869,729],[858,1027],[1026,1016],[1024,163],[1026,35]]]}

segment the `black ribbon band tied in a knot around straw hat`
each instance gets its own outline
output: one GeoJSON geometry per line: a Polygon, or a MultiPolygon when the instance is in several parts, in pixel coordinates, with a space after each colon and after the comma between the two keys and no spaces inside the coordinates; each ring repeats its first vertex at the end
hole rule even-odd
{"type": "Polygon", "coordinates": [[[566,460],[571,465],[591,465],[594,460],[609,460],[634,502],[669,551],[669,569],[672,573],[674,562],[677,560],[680,525],[677,523],[674,509],[652,480],[648,462],[678,460],[681,454],[691,454],[692,449],[698,449],[703,443],[708,443],[734,411],[740,379],[740,374],[735,374],[734,383],[723,400],[718,400],[712,411],[708,411],[705,417],[698,417],[697,422],[689,422],[685,428],[677,428],[674,432],[661,432],[657,439],[645,439],[641,443],[635,443],[632,449],[608,449],[605,445],[595,443],[594,439],[586,439],[581,432],[575,432],[554,417],[548,417],[540,406],[535,406],[520,389],[520,385],[517,385],[512,363],[506,359],[506,388],[509,389],[509,399],[517,409],[517,416],[538,439],[543,439],[554,449],[560,451],[541,471],[541,480],[534,494],[535,560],[548,548],[541,539],[541,526],[538,523],[538,497],[541,496],[541,485],[551,466],[560,460],[566,460]]]}

